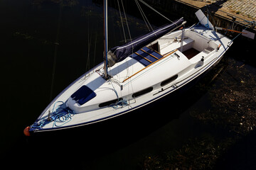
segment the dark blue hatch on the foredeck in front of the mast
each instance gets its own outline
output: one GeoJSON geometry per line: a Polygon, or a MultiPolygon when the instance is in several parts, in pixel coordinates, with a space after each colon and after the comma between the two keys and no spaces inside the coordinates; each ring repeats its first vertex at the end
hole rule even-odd
{"type": "Polygon", "coordinates": [[[75,91],[73,95],[71,95],[71,98],[75,100],[80,105],[83,105],[87,101],[90,101],[92,98],[95,98],[96,94],[92,89],[90,89],[87,86],[81,86],[80,89],[75,91]]]}

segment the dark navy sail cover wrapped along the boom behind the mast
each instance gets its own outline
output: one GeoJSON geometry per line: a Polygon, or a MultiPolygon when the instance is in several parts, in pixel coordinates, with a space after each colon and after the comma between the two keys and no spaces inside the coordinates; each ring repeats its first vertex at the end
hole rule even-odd
{"type": "Polygon", "coordinates": [[[162,26],[161,28],[157,28],[156,30],[153,30],[145,35],[141,35],[125,45],[112,47],[110,51],[107,52],[108,66],[112,67],[116,62],[121,62],[129,55],[132,55],[133,52],[137,52],[137,50],[148,45],[150,42],[161,38],[174,28],[181,26],[181,23],[183,23],[183,21],[183,18],[180,18],[171,24],[162,26]]]}

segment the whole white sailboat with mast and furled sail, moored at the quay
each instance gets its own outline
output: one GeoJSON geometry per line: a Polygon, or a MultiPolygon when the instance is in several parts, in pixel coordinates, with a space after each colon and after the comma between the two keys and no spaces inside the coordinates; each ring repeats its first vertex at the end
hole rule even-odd
{"type": "Polygon", "coordinates": [[[217,64],[233,44],[213,30],[201,10],[196,16],[200,23],[190,28],[178,29],[186,23],[180,18],[110,50],[105,17],[105,62],[64,89],[24,130],[26,135],[98,123],[186,88],[217,64]]]}

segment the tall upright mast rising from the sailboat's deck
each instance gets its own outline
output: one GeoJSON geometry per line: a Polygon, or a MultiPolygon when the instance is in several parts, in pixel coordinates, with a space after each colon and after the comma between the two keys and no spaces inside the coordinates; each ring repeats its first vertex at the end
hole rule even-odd
{"type": "Polygon", "coordinates": [[[107,0],[104,1],[104,78],[107,79],[107,0]]]}

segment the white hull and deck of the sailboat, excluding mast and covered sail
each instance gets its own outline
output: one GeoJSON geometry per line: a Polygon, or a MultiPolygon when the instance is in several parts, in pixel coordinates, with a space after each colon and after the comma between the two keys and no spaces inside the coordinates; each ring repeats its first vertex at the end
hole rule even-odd
{"type": "Polygon", "coordinates": [[[181,49],[181,42],[175,40],[179,35],[181,30],[164,35],[147,45],[158,48],[159,53],[164,56],[161,60],[149,61],[151,63],[145,66],[139,60],[127,57],[108,68],[111,78],[107,81],[102,78],[104,63],[98,64],[61,92],[34,125],[46,120],[49,111],[52,115],[53,106],[57,108],[58,101],[63,102],[61,107],[68,107],[75,112],[72,119],[61,126],[55,126],[58,123],[54,124],[52,121],[41,128],[31,127],[30,131],[42,132],[89,125],[146,106],[182,88],[213,67],[233,43],[214,30],[196,26],[185,30],[181,49]],[[82,86],[86,86],[94,94],[85,103],[79,103],[79,96],[74,95],[82,86]]]}

